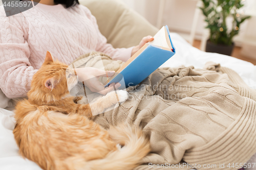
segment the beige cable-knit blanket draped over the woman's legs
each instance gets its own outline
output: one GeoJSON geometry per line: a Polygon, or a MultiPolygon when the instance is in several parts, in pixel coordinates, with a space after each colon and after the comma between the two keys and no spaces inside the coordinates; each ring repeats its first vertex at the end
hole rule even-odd
{"type": "MultiPolygon", "coordinates": [[[[123,64],[102,53],[81,56],[73,64],[95,66],[101,62],[96,56],[106,70],[123,64]]],[[[120,122],[143,128],[152,153],[136,170],[161,164],[163,169],[239,169],[236,165],[256,152],[256,91],[229,68],[215,63],[204,69],[159,68],[127,91],[126,102],[94,121],[104,128],[120,122]]]]}

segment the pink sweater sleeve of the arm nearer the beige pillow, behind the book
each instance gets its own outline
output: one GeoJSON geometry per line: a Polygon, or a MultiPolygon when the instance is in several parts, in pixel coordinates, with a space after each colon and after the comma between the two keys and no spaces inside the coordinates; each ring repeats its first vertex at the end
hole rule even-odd
{"type": "Polygon", "coordinates": [[[97,32],[97,47],[96,51],[109,55],[114,60],[127,61],[131,58],[133,47],[129,48],[114,48],[111,44],[106,43],[106,38],[100,33],[96,18],[92,15],[91,11],[83,7],[87,17],[92,21],[97,32]]]}

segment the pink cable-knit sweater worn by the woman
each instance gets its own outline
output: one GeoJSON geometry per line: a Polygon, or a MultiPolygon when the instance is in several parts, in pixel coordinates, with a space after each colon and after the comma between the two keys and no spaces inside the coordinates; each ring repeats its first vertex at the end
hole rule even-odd
{"type": "Polygon", "coordinates": [[[0,7],[0,87],[8,98],[26,96],[47,51],[70,64],[91,51],[127,61],[132,48],[115,49],[106,43],[95,17],[82,5],[66,9],[38,4],[10,17],[0,7]]]}

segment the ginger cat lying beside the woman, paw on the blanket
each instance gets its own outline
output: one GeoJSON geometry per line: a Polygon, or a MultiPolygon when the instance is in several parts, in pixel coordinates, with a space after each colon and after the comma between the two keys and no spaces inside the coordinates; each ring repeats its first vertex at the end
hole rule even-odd
{"type": "MultiPolygon", "coordinates": [[[[68,65],[53,61],[47,52],[32,79],[28,100],[17,103],[13,134],[20,155],[47,170],[129,170],[139,165],[150,152],[139,128],[120,125],[106,131],[90,119],[91,109],[101,112],[116,104],[116,93],[103,96],[91,109],[89,104],[76,104],[67,82],[74,85],[77,77],[71,69],[66,76],[66,69],[68,65]]],[[[119,100],[127,99],[126,91],[117,92],[119,100]]]]}

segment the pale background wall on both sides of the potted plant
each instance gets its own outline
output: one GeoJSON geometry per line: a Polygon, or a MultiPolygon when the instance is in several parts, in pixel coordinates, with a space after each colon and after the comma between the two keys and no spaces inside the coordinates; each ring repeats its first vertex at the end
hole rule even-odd
{"type": "MultiPolygon", "coordinates": [[[[135,11],[144,16],[153,25],[157,24],[158,8],[160,1],[156,0],[120,0],[129,5],[135,11]]],[[[256,11],[256,0],[245,0],[247,3],[245,12],[256,11]]],[[[193,22],[197,1],[194,0],[165,0],[165,8],[162,25],[168,25],[170,31],[189,34],[193,22]]],[[[253,20],[253,18],[251,19],[253,20]]],[[[256,22],[247,21],[240,27],[240,33],[234,38],[237,45],[241,45],[245,36],[256,34],[256,22]]],[[[204,16],[201,14],[198,20],[196,39],[201,39],[204,30],[204,16]]],[[[185,36],[184,36],[185,38],[185,36]]],[[[256,41],[256,35],[255,35],[256,41]]]]}

